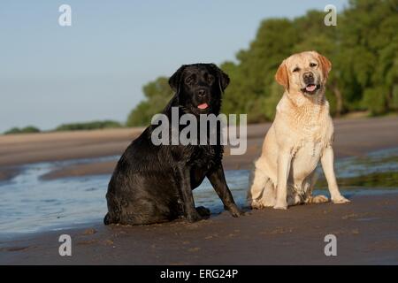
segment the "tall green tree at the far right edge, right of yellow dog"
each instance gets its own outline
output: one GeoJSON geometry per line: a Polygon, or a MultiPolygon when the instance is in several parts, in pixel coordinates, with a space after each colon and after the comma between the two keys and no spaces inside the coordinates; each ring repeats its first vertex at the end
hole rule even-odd
{"type": "Polygon", "coordinates": [[[394,110],[398,1],[351,0],[342,18],[341,73],[350,111],[394,110]],[[344,64],[345,63],[345,64],[344,64]]]}

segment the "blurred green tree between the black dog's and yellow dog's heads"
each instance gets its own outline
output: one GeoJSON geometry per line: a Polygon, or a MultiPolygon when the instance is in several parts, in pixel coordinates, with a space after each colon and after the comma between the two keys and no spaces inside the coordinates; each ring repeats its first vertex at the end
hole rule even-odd
{"type": "MultiPolygon", "coordinates": [[[[249,123],[273,119],[274,111],[268,110],[274,109],[279,100],[275,99],[276,94],[272,92],[275,89],[274,74],[283,58],[290,54],[297,38],[291,20],[264,20],[249,49],[241,50],[236,55],[238,63],[221,65],[231,77],[231,85],[226,88],[223,111],[227,114],[249,113],[249,123]],[[267,107],[264,108],[265,104],[267,107]]],[[[278,93],[279,98],[282,92],[278,93]]]]}

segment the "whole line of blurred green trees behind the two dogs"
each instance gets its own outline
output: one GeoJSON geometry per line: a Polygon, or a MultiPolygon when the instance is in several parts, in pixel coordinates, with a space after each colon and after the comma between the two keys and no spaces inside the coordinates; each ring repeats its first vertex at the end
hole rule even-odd
{"type": "MultiPolygon", "coordinates": [[[[326,27],[325,11],[295,19],[264,19],[247,50],[220,67],[231,83],[223,97],[229,113],[248,113],[249,123],[270,121],[283,89],[274,80],[282,60],[317,50],[332,63],[326,96],[335,117],[353,111],[383,115],[398,111],[398,0],[350,0],[326,27]]],[[[127,126],[148,125],[172,97],[168,78],[143,87],[144,100],[129,114],[127,126]]]]}

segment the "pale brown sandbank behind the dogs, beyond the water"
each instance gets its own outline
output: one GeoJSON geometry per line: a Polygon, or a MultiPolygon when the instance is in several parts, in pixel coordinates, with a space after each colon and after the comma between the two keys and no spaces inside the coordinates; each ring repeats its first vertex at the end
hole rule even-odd
{"type": "MultiPolygon", "coordinates": [[[[242,156],[230,156],[226,148],[225,169],[251,169],[261,153],[264,135],[271,124],[248,126],[248,150],[242,156]]],[[[361,156],[377,149],[398,146],[398,117],[379,119],[335,119],[336,157],[361,156]]],[[[87,132],[20,134],[0,136],[0,180],[11,178],[21,164],[76,158],[121,155],[142,128],[87,132]],[[12,167],[12,168],[11,168],[12,167]],[[9,173],[4,173],[9,172],[9,173]],[[13,172],[13,173],[11,173],[13,172]]],[[[73,164],[57,169],[43,179],[111,174],[115,161],[73,164]]],[[[18,172],[18,171],[17,171],[18,172]]]]}

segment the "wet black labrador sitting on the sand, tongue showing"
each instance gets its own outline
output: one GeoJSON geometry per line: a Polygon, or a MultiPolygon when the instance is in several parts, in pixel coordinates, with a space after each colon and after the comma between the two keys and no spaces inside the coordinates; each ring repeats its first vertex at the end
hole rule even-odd
{"type": "MultiPolygon", "coordinates": [[[[199,124],[199,114],[218,115],[228,83],[217,65],[182,65],[169,80],[176,93],[163,113],[171,118],[172,107],[178,107],[179,115],[194,114],[199,124]]],[[[156,127],[149,126],[120,157],[106,194],[105,225],[161,223],[180,216],[194,222],[208,217],[209,210],[195,208],[192,195],[204,177],[226,210],[238,217],[241,211],[226,185],[219,139],[216,145],[154,145],[151,134],[156,127]]]]}

